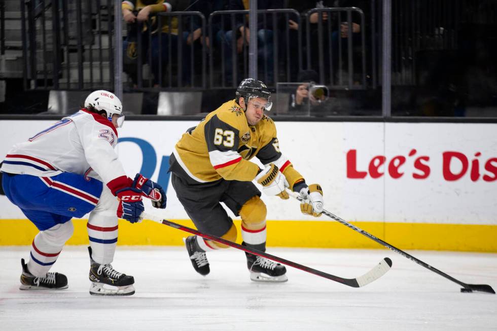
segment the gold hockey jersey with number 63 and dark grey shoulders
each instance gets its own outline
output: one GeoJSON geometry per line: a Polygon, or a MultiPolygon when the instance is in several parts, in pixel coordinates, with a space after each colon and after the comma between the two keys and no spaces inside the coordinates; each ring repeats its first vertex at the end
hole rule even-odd
{"type": "MultiPolygon", "coordinates": [[[[173,154],[177,164],[197,182],[221,178],[251,181],[260,169],[248,161],[255,156],[264,165],[274,163],[291,189],[303,180],[281,154],[274,122],[264,116],[256,125],[248,125],[245,112],[234,99],[184,133],[174,146],[173,154]]],[[[171,171],[174,172],[174,167],[171,171]]]]}

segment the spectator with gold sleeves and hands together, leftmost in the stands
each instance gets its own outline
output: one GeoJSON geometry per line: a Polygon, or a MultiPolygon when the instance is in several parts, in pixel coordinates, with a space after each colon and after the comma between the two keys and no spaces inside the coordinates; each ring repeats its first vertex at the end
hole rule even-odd
{"type": "MultiPolygon", "coordinates": [[[[178,86],[190,84],[190,58],[189,48],[186,47],[186,40],[188,38],[188,32],[183,30],[181,36],[179,36],[179,25],[177,17],[162,18],[162,30],[159,31],[159,19],[157,16],[150,16],[151,14],[156,14],[160,12],[170,12],[170,11],[184,11],[188,8],[189,0],[129,0],[122,2],[122,12],[123,18],[128,23],[145,22],[143,30],[152,33],[152,41],[150,45],[150,52],[152,63],[150,63],[151,71],[154,75],[154,86],[157,87],[160,82],[160,76],[166,71],[169,60],[177,61],[177,48],[182,50],[182,76],[183,79],[180,81],[178,79],[178,86]],[[135,14],[136,13],[136,14],[135,14]],[[150,19],[149,19],[150,18],[150,19]],[[170,29],[170,30],[169,30],[170,29]],[[172,49],[169,50],[169,44],[172,49]],[[161,54],[159,54],[159,45],[161,48],[161,54]],[[169,59],[169,52],[171,53],[172,59],[169,59]],[[162,63],[162,70],[159,72],[159,60],[162,63]]],[[[143,31],[142,30],[142,31],[143,31]]],[[[147,38],[142,38],[142,40],[147,38]]],[[[146,42],[147,43],[147,42],[146,42]]],[[[132,46],[126,43],[126,54],[132,51],[132,46]],[[131,48],[131,49],[130,49],[131,48]]],[[[143,48],[142,48],[143,49],[143,48]]],[[[142,58],[147,58],[148,56],[143,56],[142,58]]],[[[179,71],[180,69],[178,69],[179,71]]]]}

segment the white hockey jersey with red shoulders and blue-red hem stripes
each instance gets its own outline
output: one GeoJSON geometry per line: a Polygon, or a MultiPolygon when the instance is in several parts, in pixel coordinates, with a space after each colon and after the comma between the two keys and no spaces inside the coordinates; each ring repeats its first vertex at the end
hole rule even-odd
{"type": "Polygon", "coordinates": [[[15,144],[0,170],[39,177],[71,172],[109,183],[126,176],[114,150],[117,139],[109,120],[82,109],[15,144]]]}

